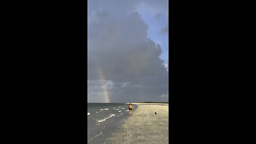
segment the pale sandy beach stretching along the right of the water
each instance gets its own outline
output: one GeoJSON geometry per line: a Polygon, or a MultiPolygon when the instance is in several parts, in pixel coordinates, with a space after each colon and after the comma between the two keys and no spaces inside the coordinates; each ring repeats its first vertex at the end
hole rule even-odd
{"type": "Polygon", "coordinates": [[[137,109],[133,111],[132,116],[125,119],[120,129],[104,143],[168,143],[169,105],[162,103],[133,104],[137,109]]]}

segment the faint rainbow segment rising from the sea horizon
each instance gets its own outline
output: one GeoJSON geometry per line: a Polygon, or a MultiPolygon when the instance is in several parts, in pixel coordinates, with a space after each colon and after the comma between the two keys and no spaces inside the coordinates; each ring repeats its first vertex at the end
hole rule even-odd
{"type": "Polygon", "coordinates": [[[109,92],[108,92],[108,89],[107,89],[106,79],[105,79],[105,76],[103,74],[103,70],[101,69],[101,67],[99,65],[99,62],[97,60],[95,60],[95,62],[96,62],[96,67],[97,67],[97,69],[99,71],[100,81],[102,82],[105,102],[106,103],[110,103],[109,92]]]}

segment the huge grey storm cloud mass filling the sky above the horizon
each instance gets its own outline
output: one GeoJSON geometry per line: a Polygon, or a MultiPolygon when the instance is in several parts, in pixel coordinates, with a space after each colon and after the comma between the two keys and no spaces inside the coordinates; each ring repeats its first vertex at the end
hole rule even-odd
{"type": "Polygon", "coordinates": [[[147,36],[142,2],[88,2],[88,102],[105,102],[105,91],[110,102],[168,101],[162,48],[147,36]]]}

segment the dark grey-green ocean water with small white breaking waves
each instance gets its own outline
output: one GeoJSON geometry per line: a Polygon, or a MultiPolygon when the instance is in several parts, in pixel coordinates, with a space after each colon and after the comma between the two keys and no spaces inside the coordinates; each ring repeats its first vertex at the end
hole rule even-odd
{"type": "Polygon", "coordinates": [[[128,106],[129,103],[87,103],[87,143],[103,143],[117,131],[130,116],[128,106]]]}

